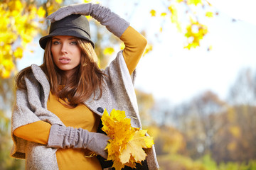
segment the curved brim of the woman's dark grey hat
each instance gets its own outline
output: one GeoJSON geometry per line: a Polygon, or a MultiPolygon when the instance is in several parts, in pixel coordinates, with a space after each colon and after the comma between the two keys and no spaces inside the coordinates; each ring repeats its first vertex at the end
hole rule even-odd
{"type": "Polygon", "coordinates": [[[46,35],[39,40],[39,44],[43,48],[43,50],[46,49],[47,41],[53,36],[58,36],[58,35],[68,35],[76,38],[82,38],[91,42],[92,47],[95,47],[95,44],[90,40],[90,36],[85,34],[83,30],[80,30],[79,28],[65,28],[65,29],[58,28],[53,30],[53,32],[50,33],[49,35],[46,35]]]}

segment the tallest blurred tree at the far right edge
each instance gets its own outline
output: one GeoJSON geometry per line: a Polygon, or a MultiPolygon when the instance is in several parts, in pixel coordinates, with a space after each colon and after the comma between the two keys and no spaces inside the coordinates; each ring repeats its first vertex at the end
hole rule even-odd
{"type": "Polygon", "coordinates": [[[256,159],[255,91],[256,73],[251,69],[242,69],[230,88],[230,106],[218,115],[218,124],[222,128],[215,136],[213,147],[213,158],[218,162],[249,162],[256,159]]]}

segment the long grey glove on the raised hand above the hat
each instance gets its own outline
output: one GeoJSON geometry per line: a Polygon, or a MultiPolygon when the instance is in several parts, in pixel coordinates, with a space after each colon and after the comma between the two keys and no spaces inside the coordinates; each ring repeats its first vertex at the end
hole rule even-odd
{"type": "Polygon", "coordinates": [[[59,21],[71,14],[80,14],[85,16],[92,16],[99,21],[107,30],[116,35],[118,38],[124,33],[129,26],[129,23],[123,18],[120,18],[116,13],[113,13],[110,8],[101,6],[100,4],[74,4],[59,8],[47,18],[51,22],[59,21]]]}

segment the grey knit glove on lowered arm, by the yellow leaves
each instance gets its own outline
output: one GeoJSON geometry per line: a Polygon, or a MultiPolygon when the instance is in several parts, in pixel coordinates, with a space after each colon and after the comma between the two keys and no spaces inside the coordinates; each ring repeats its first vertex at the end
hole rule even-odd
{"type": "Polygon", "coordinates": [[[48,139],[48,147],[55,148],[87,148],[100,156],[107,158],[105,147],[110,137],[102,133],[88,132],[82,128],[52,125],[48,139]]]}

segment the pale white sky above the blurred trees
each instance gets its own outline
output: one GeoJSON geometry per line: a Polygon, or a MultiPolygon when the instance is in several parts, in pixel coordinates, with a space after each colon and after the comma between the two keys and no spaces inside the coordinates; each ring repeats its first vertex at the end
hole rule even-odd
{"type": "MultiPolygon", "coordinates": [[[[127,19],[135,29],[146,30],[148,42],[154,45],[154,50],[142,57],[137,66],[136,88],[171,103],[187,101],[206,90],[225,99],[240,69],[250,67],[256,71],[256,6],[252,0],[210,0],[220,14],[203,21],[209,33],[195,50],[183,50],[184,37],[173,24],[165,24],[163,33],[155,36],[162,23],[158,18],[151,18],[149,11],[161,9],[156,1],[138,1],[136,8],[132,8],[132,2],[101,1],[120,16],[129,16],[127,19]],[[129,7],[132,14],[127,14],[129,7]],[[232,18],[238,21],[232,22],[232,18]],[[213,46],[210,52],[209,45],[213,46]]],[[[38,40],[31,48],[36,52],[26,53],[18,62],[18,69],[32,63],[41,64],[43,50],[38,40]]]]}

